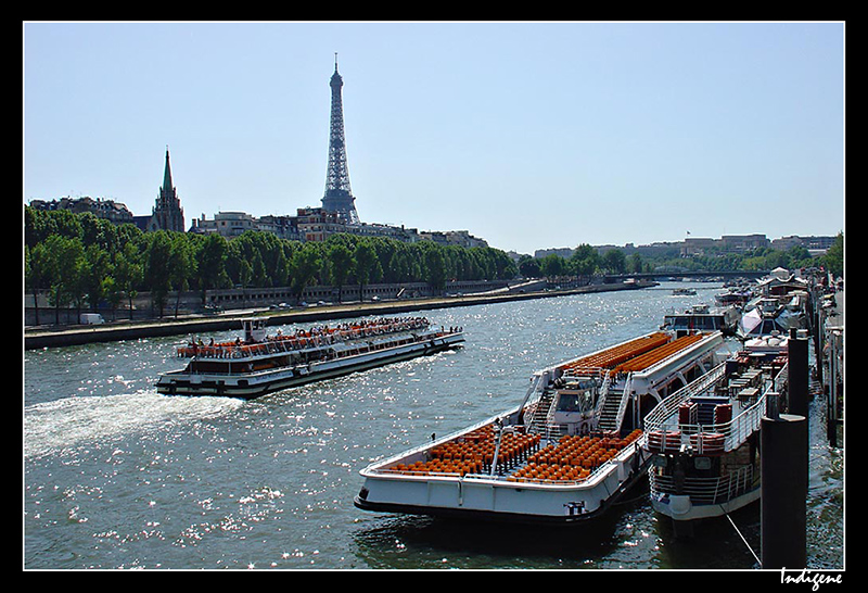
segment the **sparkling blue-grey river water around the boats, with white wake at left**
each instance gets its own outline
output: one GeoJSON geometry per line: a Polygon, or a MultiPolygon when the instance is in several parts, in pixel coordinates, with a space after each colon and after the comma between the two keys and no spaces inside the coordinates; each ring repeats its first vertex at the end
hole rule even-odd
{"type": "MultiPolygon", "coordinates": [[[[719,290],[662,283],[429,311],[464,328],[463,349],[251,402],[157,394],[158,374],[182,366],[182,336],[26,351],[23,567],[758,568],[758,504],[685,541],[654,515],[644,485],[599,522],[571,528],[353,505],[370,462],[511,408],[533,370],[653,331],[671,307],[713,304],[719,290]],[[698,293],[675,296],[676,286],[698,293]]],[[[816,398],[809,418],[815,570],[844,563],[843,449],[826,441],[824,406],[816,398]]]]}

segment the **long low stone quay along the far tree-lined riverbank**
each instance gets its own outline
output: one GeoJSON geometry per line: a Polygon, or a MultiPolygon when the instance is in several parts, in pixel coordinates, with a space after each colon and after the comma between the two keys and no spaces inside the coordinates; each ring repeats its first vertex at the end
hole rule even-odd
{"type": "MultiPolygon", "coordinates": [[[[306,324],[331,319],[363,317],[366,315],[391,315],[414,311],[431,311],[460,306],[473,306],[508,301],[525,301],[529,299],[548,299],[570,294],[587,294],[596,292],[613,292],[618,290],[639,290],[658,286],[651,280],[625,281],[617,283],[590,285],[574,289],[535,291],[524,293],[488,293],[465,294],[461,296],[439,296],[425,299],[407,299],[400,301],[378,301],[349,303],[343,305],[323,305],[295,311],[261,311],[253,315],[267,317],[269,323],[306,324]]],[[[138,340],[164,336],[196,336],[215,331],[239,329],[241,320],[251,314],[227,312],[219,315],[196,315],[178,318],[155,319],[153,321],[112,321],[99,326],[78,326],[68,329],[25,328],[24,349],[61,348],[95,342],[115,342],[138,340]]]]}

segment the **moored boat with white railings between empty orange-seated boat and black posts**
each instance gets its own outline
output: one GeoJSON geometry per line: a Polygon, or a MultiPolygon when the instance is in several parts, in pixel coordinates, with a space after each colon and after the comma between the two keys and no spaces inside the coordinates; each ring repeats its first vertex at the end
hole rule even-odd
{"type": "Polygon", "coordinates": [[[760,425],[782,396],[787,356],[741,351],[674,392],[644,418],[649,496],[675,527],[760,499],[760,425]]]}

